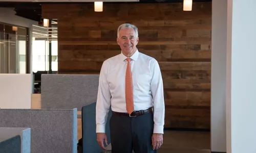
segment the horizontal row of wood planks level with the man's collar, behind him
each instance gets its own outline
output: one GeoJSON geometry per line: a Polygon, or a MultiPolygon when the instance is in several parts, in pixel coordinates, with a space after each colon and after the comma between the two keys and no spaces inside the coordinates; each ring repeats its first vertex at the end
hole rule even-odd
{"type": "MultiPolygon", "coordinates": [[[[208,50],[140,50],[141,53],[154,57],[162,62],[210,62],[210,52],[208,50]]],[[[106,59],[120,54],[120,50],[62,50],[59,58],[63,61],[97,61],[103,62],[106,59]],[[72,54],[70,54],[72,52],[72,54]],[[106,54],[108,52],[108,54],[106,54]]]]}

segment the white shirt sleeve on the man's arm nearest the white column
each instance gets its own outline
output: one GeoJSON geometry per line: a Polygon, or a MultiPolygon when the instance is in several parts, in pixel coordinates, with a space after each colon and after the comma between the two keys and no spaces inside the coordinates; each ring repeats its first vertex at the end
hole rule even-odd
{"type": "Polygon", "coordinates": [[[152,62],[152,80],[151,91],[154,104],[154,131],[153,133],[163,134],[164,127],[164,96],[163,96],[163,80],[158,62],[154,59],[152,62]]]}

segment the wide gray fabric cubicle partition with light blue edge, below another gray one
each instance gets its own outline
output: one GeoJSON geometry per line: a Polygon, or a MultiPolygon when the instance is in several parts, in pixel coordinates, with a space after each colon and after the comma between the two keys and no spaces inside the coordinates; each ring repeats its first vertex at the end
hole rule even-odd
{"type": "Polygon", "coordinates": [[[0,109],[0,127],[31,128],[32,153],[77,152],[77,109],[0,109]]]}

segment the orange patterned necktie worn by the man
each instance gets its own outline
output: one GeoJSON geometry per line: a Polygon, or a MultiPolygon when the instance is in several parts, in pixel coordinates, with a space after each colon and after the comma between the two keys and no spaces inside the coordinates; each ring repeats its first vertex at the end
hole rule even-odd
{"type": "Polygon", "coordinates": [[[134,111],[133,104],[133,78],[132,78],[132,70],[131,70],[131,59],[127,58],[127,68],[126,68],[126,76],[125,76],[125,100],[126,100],[126,110],[131,115],[134,111]]]}

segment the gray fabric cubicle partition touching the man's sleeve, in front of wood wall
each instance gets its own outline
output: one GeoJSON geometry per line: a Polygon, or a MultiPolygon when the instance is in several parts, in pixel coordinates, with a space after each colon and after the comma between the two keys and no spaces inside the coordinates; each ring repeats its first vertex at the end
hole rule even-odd
{"type": "Polygon", "coordinates": [[[81,111],[96,101],[98,85],[98,74],[42,74],[41,108],[81,111]]]}

